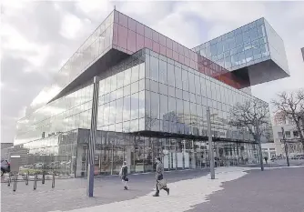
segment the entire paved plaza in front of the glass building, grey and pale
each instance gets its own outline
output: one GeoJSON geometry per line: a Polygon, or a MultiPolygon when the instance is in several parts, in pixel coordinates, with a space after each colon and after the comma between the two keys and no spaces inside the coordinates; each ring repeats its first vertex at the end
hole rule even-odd
{"type": "Polygon", "coordinates": [[[33,190],[18,183],[2,184],[1,211],[175,211],[175,212],[303,212],[304,167],[272,167],[264,172],[258,167],[217,168],[215,180],[207,170],[166,173],[170,196],[152,197],[154,175],[130,176],[130,189],[123,190],[117,177],[97,177],[95,197],[86,197],[86,179],[38,182],[33,190]]]}

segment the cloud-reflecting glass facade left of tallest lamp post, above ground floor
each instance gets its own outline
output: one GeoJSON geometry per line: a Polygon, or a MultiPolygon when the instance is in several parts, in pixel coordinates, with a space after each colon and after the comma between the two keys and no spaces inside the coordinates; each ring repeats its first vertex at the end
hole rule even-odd
{"type": "Polygon", "coordinates": [[[86,86],[37,109],[17,122],[15,145],[91,124],[93,86],[86,86]]]}

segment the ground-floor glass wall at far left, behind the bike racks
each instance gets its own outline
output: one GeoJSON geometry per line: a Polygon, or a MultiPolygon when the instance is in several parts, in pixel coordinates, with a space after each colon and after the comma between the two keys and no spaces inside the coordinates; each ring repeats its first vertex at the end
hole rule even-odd
{"type": "Polygon", "coordinates": [[[46,171],[59,177],[75,177],[76,146],[77,130],[14,146],[17,153],[25,153],[21,154],[20,173],[28,171],[34,175],[46,171]]]}

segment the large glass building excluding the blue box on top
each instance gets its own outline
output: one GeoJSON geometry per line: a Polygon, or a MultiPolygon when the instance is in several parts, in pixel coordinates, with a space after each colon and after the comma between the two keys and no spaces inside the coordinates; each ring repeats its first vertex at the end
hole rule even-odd
{"type": "Polygon", "coordinates": [[[229,125],[233,106],[257,98],[224,66],[113,11],[18,121],[22,168],[86,176],[94,76],[96,175],[117,174],[124,160],[131,173],[153,171],[155,156],[166,170],[208,167],[207,106],[217,166],[257,163],[248,129],[229,125]]]}

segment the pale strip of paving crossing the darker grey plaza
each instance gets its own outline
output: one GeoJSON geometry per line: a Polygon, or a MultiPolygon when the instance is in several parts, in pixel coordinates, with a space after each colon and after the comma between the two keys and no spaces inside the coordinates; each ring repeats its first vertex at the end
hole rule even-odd
{"type": "Polygon", "coordinates": [[[243,177],[247,173],[245,170],[250,168],[218,168],[217,177],[211,180],[209,175],[192,179],[185,179],[168,184],[170,187],[170,196],[166,192],[161,193],[161,197],[152,197],[153,192],[143,197],[137,197],[125,201],[111,204],[100,205],[96,207],[86,207],[69,212],[99,212],[99,211],[166,211],[183,212],[195,205],[208,201],[208,196],[218,190],[223,182],[235,180],[243,177]]]}

